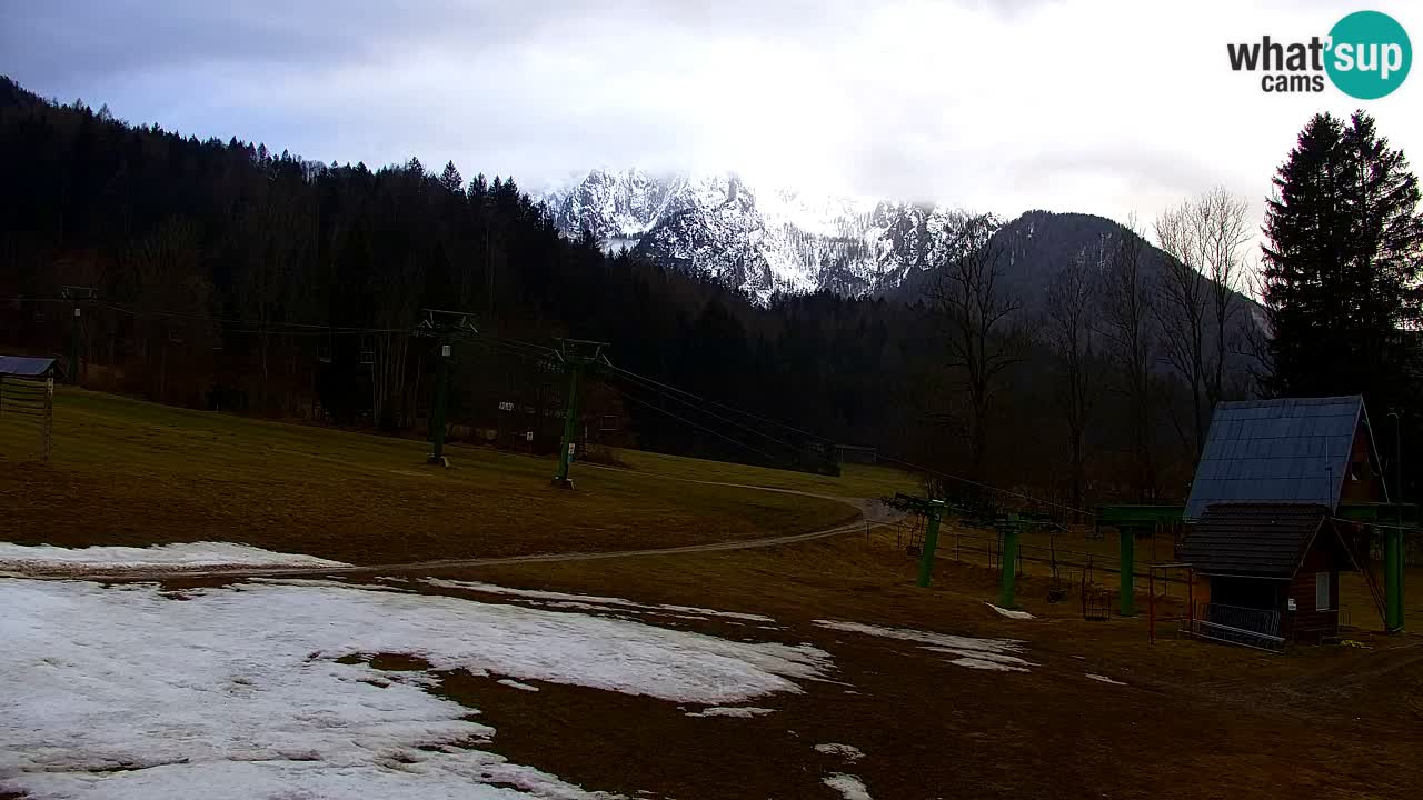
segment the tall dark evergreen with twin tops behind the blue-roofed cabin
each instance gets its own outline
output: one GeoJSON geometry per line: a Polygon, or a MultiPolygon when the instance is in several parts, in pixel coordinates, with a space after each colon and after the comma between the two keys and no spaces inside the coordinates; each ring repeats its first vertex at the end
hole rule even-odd
{"type": "Polygon", "coordinates": [[[1265,214],[1265,307],[1276,394],[1413,393],[1409,363],[1423,252],[1417,178],[1362,111],[1315,115],[1265,214]]]}

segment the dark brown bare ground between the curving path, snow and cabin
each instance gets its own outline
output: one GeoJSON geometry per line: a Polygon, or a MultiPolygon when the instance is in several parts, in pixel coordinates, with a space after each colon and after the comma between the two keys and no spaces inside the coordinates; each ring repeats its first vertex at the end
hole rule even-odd
{"type": "Polygon", "coordinates": [[[935,588],[918,589],[912,564],[892,544],[881,532],[764,551],[441,574],[771,615],[784,629],[659,621],[810,642],[834,656],[830,682],[748,703],[776,709],[767,716],[693,719],[647,698],[549,683],[528,693],[462,672],[447,675],[441,692],[478,707],[498,730],[494,749],[514,762],[629,796],[834,799],[821,780],[845,772],[881,800],[1417,797],[1416,636],[1359,632],[1372,649],[1296,648],[1284,656],[1174,638],[1148,645],[1144,619],[1084,622],[1076,598],[1049,605],[1046,582],[1033,577],[1019,595],[1039,615],[1032,621],[985,605],[995,584],[982,568],[941,564],[935,588]],[[912,642],[828,631],[814,619],[1019,638],[1037,666],[1026,675],[963,669],[912,642]],[[1127,686],[1089,680],[1087,672],[1127,686]],[[817,743],[854,744],[865,757],[845,763],[817,753],[817,743]]]}

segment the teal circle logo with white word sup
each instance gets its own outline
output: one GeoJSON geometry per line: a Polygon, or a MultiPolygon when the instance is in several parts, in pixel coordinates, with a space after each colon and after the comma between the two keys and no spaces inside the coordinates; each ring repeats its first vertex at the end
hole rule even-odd
{"type": "Polygon", "coordinates": [[[1329,30],[1325,71],[1339,91],[1359,100],[1377,100],[1403,84],[1413,65],[1413,44],[1393,17],[1380,11],[1355,11],[1329,30]]]}

